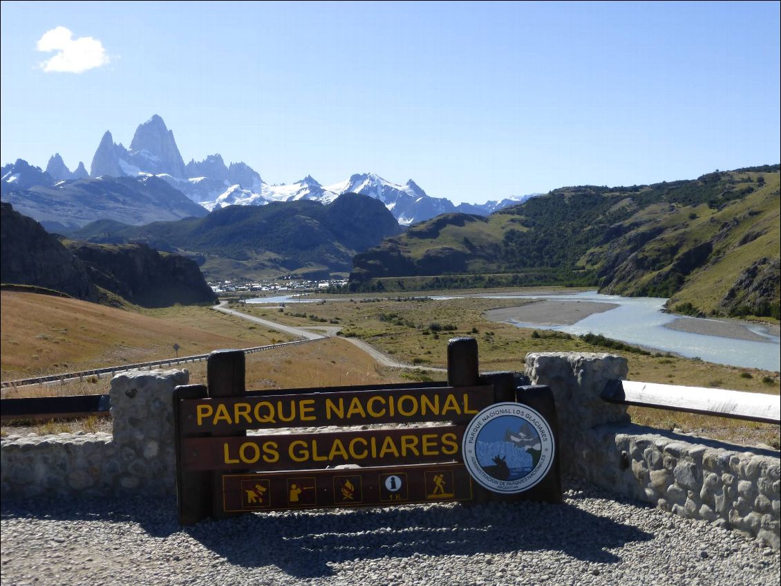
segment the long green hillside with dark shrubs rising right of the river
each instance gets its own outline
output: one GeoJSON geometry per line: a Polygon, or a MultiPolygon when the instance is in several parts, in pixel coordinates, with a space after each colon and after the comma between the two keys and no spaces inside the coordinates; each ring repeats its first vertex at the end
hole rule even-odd
{"type": "Polygon", "coordinates": [[[779,166],[561,188],[488,218],[445,214],[356,255],[351,288],[424,276],[469,287],[590,284],[671,297],[686,313],[777,319],[779,166]]]}

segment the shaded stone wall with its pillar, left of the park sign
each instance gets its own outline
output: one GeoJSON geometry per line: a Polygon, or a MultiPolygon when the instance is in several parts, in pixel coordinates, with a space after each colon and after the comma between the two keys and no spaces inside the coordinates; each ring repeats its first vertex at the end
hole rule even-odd
{"type": "Polygon", "coordinates": [[[2,497],[173,494],[173,388],[187,370],[112,379],[113,434],[10,435],[0,441],[2,497]]]}

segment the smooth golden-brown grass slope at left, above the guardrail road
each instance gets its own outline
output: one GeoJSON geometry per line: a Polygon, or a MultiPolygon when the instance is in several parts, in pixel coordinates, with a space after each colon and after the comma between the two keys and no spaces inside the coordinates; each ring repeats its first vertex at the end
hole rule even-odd
{"type": "Polygon", "coordinates": [[[0,292],[2,379],[89,370],[288,341],[208,307],[126,311],[77,299],[0,292]]]}

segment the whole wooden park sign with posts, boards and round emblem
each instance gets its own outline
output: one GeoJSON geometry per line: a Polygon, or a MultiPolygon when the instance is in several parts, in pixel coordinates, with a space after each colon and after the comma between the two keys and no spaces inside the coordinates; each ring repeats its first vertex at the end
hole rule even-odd
{"type": "Polygon", "coordinates": [[[450,341],[448,382],[426,387],[244,391],[241,351],[212,352],[207,377],[173,394],[182,525],[264,510],[562,500],[550,389],[480,375],[473,338],[450,341]],[[422,422],[442,424],[408,425],[422,422]],[[319,431],[331,426],[344,430],[319,431]],[[297,433],[268,432],[278,428],[297,433]]]}

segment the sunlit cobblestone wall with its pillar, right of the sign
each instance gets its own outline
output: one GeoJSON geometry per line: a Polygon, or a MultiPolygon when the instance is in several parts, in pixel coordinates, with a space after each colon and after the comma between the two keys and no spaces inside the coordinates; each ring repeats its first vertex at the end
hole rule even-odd
{"type": "Polygon", "coordinates": [[[600,398],[626,373],[619,356],[526,356],[526,376],[555,396],[562,472],[779,548],[779,452],[629,423],[626,406],[600,398]]]}

